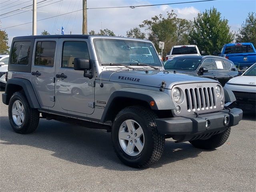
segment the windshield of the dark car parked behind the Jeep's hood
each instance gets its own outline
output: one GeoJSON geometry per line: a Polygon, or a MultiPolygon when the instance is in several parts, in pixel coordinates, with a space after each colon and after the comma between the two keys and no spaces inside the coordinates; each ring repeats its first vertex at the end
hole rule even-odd
{"type": "Polygon", "coordinates": [[[167,70],[191,70],[194,71],[198,68],[201,59],[199,58],[184,58],[174,57],[164,62],[164,68],[167,70]]]}

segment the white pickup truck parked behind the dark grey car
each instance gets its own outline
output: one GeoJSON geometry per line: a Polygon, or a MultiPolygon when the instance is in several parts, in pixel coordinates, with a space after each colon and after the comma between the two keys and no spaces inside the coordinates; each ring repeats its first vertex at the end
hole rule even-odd
{"type": "Polygon", "coordinates": [[[180,55],[201,55],[196,45],[176,45],[173,46],[170,54],[166,55],[166,60],[180,55]]]}

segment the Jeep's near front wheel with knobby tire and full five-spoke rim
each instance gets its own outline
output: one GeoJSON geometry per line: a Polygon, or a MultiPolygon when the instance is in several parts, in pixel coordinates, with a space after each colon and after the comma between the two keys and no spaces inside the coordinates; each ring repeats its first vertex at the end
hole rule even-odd
{"type": "Polygon", "coordinates": [[[156,128],[156,118],[154,112],[141,106],[126,107],[117,114],[111,136],[124,164],[143,168],[160,159],[165,138],[156,128]]]}

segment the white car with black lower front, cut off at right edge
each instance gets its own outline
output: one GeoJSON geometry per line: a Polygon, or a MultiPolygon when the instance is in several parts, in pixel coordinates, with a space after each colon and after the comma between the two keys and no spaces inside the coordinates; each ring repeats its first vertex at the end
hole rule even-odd
{"type": "Polygon", "coordinates": [[[234,105],[245,111],[256,111],[256,63],[241,76],[230,79],[224,88],[236,96],[234,105]]]}

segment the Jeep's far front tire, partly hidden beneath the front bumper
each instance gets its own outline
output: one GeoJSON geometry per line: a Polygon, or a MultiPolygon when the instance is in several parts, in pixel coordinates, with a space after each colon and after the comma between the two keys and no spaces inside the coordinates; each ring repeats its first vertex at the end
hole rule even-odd
{"type": "Polygon", "coordinates": [[[193,141],[190,141],[190,143],[194,147],[200,148],[200,149],[207,149],[207,150],[215,149],[217,147],[222,146],[228,140],[228,137],[230,135],[230,130],[231,128],[228,127],[224,132],[216,134],[210,137],[209,139],[193,140],[193,141]]]}

